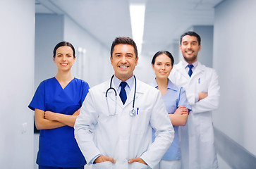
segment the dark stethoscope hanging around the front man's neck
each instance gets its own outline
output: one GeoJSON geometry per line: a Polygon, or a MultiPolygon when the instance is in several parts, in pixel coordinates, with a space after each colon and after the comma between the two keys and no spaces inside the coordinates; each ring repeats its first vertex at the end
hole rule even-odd
{"type": "MultiPolygon", "coordinates": [[[[130,110],[130,116],[136,115],[136,111],[135,111],[135,108],[134,108],[134,104],[135,104],[135,95],[136,95],[136,84],[137,84],[137,81],[136,81],[135,75],[133,75],[133,77],[134,77],[134,80],[135,80],[135,89],[134,89],[134,94],[133,94],[133,108],[130,110]]],[[[108,94],[109,90],[114,90],[115,96],[116,96],[116,100],[117,100],[117,92],[116,92],[116,89],[114,89],[114,88],[112,87],[112,80],[113,80],[113,78],[114,78],[114,75],[112,75],[112,77],[111,77],[109,89],[106,90],[106,104],[108,105],[108,109],[109,109],[109,100],[108,100],[107,94],[108,94]]],[[[114,114],[111,114],[110,109],[109,109],[109,113],[110,113],[110,115],[116,115],[116,106],[115,106],[114,114]]]]}

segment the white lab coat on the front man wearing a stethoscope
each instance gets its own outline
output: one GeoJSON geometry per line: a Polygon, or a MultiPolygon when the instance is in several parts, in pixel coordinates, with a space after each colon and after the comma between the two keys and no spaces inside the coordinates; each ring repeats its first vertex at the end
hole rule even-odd
{"type": "MultiPolygon", "coordinates": [[[[93,164],[92,168],[152,168],[161,160],[174,137],[173,126],[166,112],[161,94],[154,87],[137,80],[135,110],[138,115],[130,116],[133,107],[135,85],[123,105],[120,97],[115,99],[114,91],[106,89],[110,80],[92,87],[75,121],[75,139],[87,163],[98,154],[114,158],[111,162],[93,164]],[[116,115],[114,115],[116,105],[116,115]],[[152,143],[152,127],[157,138],[152,143]],[[130,158],[142,158],[142,163],[128,163],[130,158]]],[[[112,86],[114,87],[114,86],[112,86]]],[[[116,89],[117,91],[117,89],[116,89]]]]}

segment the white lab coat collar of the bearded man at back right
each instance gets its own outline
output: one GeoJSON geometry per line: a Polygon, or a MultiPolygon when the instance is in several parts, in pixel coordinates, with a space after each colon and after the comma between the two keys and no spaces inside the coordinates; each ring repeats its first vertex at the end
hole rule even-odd
{"type": "Polygon", "coordinates": [[[205,71],[205,65],[202,65],[200,62],[198,62],[198,65],[195,68],[195,70],[193,71],[191,77],[189,77],[188,73],[185,71],[185,68],[183,67],[182,61],[180,61],[176,65],[176,70],[179,71],[181,73],[181,75],[183,75],[187,79],[193,79],[193,77],[195,77],[197,74],[205,71]]]}

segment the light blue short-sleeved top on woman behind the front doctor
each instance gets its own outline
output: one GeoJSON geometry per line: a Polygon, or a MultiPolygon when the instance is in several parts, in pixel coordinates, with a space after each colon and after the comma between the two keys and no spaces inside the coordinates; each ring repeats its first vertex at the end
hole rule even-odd
{"type": "MultiPolygon", "coordinates": [[[[152,83],[152,86],[155,88],[158,88],[157,81],[154,80],[152,83]]],[[[164,104],[166,106],[167,112],[169,114],[175,113],[176,109],[179,106],[185,106],[188,108],[188,112],[191,111],[190,104],[188,103],[187,96],[185,94],[185,90],[183,87],[178,87],[176,84],[173,84],[171,80],[168,80],[168,86],[167,86],[167,92],[162,96],[162,99],[164,100],[164,104]]],[[[174,129],[174,139],[171,143],[171,146],[166,151],[166,154],[164,154],[162,160],[181,160],[181,148],[178,141],[178,127],[177,125],[173,125],[174,129]]],[[[155,131],[153,129],[153,135],[152,139],[154,141],[155,131]]]]}

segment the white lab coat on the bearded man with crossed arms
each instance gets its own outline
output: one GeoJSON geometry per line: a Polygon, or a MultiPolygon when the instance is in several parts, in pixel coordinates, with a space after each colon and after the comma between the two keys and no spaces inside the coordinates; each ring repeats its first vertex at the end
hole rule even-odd
{"type": "Polygon", "coordinates": [[[185,89],[192,108],[187,125],[180,127],[183,168],[218,168],[212,125],[212,111],[219,106],[220,87],[216,71],[198,63],[189,77],[181,61],[174,65],[169,78],[185,89]],[[195,94],[200,92],[207,92],[208,96],[195,102],[195,94]]]}

